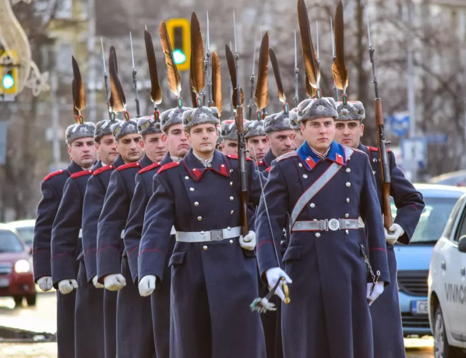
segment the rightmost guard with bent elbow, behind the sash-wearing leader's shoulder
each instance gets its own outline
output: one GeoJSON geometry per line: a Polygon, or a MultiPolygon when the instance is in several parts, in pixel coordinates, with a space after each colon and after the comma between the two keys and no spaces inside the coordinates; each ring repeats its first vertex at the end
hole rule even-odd
{"type": "MultiPolygon", "coordinates": [[[[361,144],[361,137],[364,133],[364,124],[362,124],[365,118],[364,106],[359,101],[348,101],[346,104],[338,102],[337,110],[335,141],[348,147],[357,148],[369,156],[372,171],[375,175],[377,197],[381,210],[382,181],[378,149],[361,144]]],[[[377,358],[401,358],[405,356],[394,243],[398,241],[401,244],[409,244],[424,208],[422,194],[406,179],[397,166],[395,156],[391,151],[389,151],[389,161],[390,195],[397,207],[397,215],[391,227],[393,232],[387,233],[385,230],[390,281],[392,284],[370,306],[374,336],[374,356],[377,358]]],[[[364,237],[369,235],[364,229],[361,229],[361,231],[364,237]]]]}

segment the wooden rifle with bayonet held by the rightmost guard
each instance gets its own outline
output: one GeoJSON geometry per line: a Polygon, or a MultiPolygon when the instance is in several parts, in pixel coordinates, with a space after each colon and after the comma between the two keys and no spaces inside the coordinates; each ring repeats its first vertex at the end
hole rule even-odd
{"type": "Polygon", "coordinates": [[[387,141],[385,137],[385,125],[383,122],[382,112],[382,100],[379,97],[378,92],[378,81],[375,72],[375,61],[374,61],[374,48],[371,43],[371,33],[369,28],[369,16],[366,10],[366,21],[367,21],[367,35],[369,37],[369,58],[372,64],[372,75],[375,89],[375,121],[377,124],[377,148],[379,152],[379,164],[380,164],[380,175],[382,177],[382,212],[383,212],[383,226],[387,231],[390,232],[389,228],[393,224],[392,220],[392,208],[390,206],[390,162],[387,154],[387,145],[391,144],[391,141],[387,141]]]}

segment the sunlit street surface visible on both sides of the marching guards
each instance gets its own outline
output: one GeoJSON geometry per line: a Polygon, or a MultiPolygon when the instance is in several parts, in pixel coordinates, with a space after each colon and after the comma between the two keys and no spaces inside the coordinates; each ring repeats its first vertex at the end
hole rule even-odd
{"type": "MultiPolygon", "coordinates": [[[[0,298],[0,326],[13,327],[34,332],[55,333],[55,292],[40,293],[36,307],[15,308],[12,298],[0,298]]],[[[432,337],[405,339],[407,358],[433,358],[432,337]]],[[[55,358],[55,342],[47,343],[0,343],[2,358],[55,358]]],[[[377,357],[375,357],[377,358],[377,357]]]]}

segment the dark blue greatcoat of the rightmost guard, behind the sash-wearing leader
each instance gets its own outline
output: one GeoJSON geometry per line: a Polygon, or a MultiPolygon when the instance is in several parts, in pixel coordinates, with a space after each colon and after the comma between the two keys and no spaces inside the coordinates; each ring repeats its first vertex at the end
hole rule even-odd
{"type": "MultiPolygon", "coordinates": [[[[362,144],[359,145],[358,149],[369,156],[375,175],[377,197],[380,202],[380,209],[382,209],[383,191],[378,149],[366,147],[362,144]]],[[[422,194],[414,188],[411,182],[406,179],[403,171],[397,166],[395,155],[391,151],[389,152],[389,161],[391,174],[390,196],[393,197],[397,207],[394,222],[398,223],[405,231],[405,234],[398,241],[402,244],[408,244],[424,208],[424,201],[422,194]]],[[[376,358],[401,358],[405,356],[405,345],[398,296],[397,259],[393,245],[387,244],[387,255],[392,284],[386,287],[380,297],[370,306],[374,333],[374,356],[376,358]]]]}

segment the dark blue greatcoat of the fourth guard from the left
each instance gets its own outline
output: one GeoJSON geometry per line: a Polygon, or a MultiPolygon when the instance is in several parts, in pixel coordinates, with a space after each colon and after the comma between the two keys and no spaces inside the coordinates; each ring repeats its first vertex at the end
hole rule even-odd
{"type": "Polygon", "coordinates": [[[122,274],[126,286],[117,298],[117,357],[151,357],[153,343],[150,298],[141,297],[132,285],[128,256],[122,231],[128,220],[135,187],[135,175],[152,162],[144,155],[139,162],[128,163],[110,176],[97,230],[97,275],[103,280],[110,274],[122,274]],[[130,328],[130,329],[128,329],[130,328]]]}

